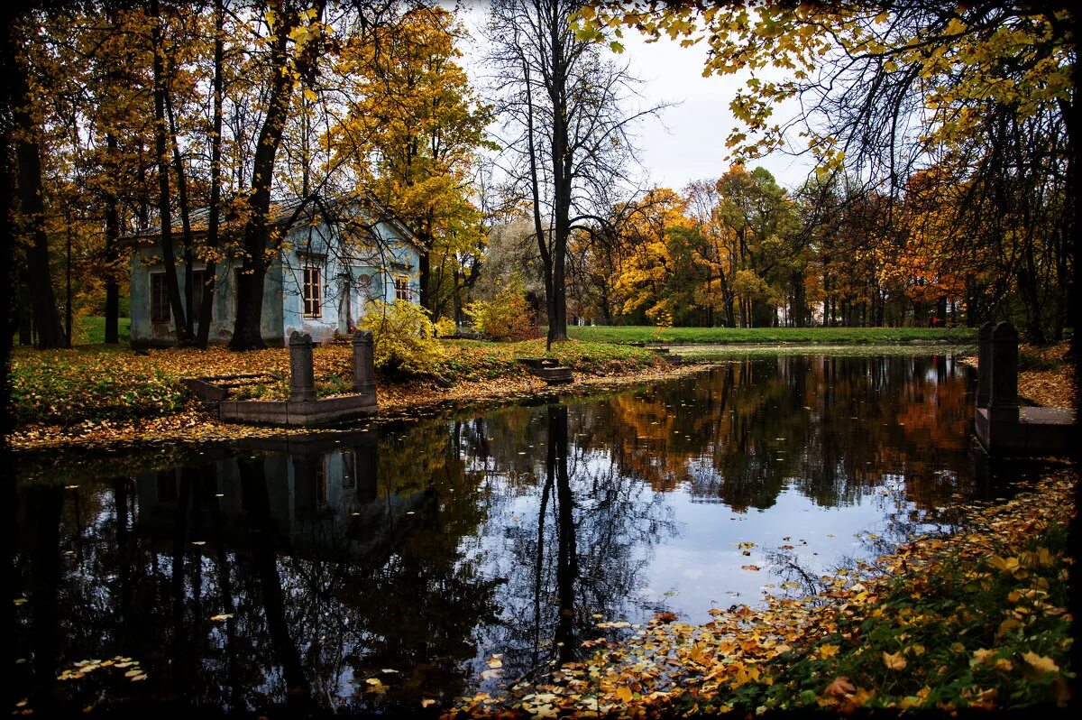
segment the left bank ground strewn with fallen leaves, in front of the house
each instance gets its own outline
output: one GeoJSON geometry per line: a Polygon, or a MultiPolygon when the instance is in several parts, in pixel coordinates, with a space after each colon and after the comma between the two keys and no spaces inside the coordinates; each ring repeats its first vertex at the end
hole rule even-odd
{"type": "MultiPolygon", "coordinates": [[[[381,416],[446,403],[510,402],[546,390],[543,381],[517,362],[519,357],[544,355],[542,340],[441,342],[446,352],[431,376],[405,381],[378,377],[381,416]],[[436,378],[445,387],[434,383],[436,378]]],[[[349,392],[351,353],[347,345],[315,349],[321,396],[349,392]]],[[[649,351],[605,343],[557,343],[552,356],[575,369],[572,392],[609,380],[661,379],[676,371],[649,351]]],[[[16,448],[40,449],[110,442],[202,442],[281,432],[219,422],[199,409],[181,383],[184,377],[246,372],[276,372],[288,378],[288,351],[168,349],[135,355],[102,346],[45,352],[18,349],[12,358],[12,395],[19,427],[11,442],[16,448]]],[[[250,387],[243,395],[285,400],[288,379],[250,387]]]]}

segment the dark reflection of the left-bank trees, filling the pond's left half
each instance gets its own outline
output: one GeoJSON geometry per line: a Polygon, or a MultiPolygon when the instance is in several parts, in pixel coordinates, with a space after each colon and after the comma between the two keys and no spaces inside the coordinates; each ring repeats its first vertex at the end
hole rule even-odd
{"type": "Polygon", "coordinates": [[[296,462],[241,457],[94,492],[23,490],[19,582],[52,618],[24,613],[16,627],[19,656],[32,650],[38,663],[26,668],[35,707],[81,708],[104,693],[107,704],[393,710],[460,694],[496,581],[461,549],[485,508],[459,454],[445,424],[296,462]],[[427,475],[411,474],[419,467],[427,475]],[[63,561],[69,547],[78,553],[63,561]],[[117,654],[148,679],[55,683],[57,668],[117,654]],[[366,693],[383,668],[401,672],[383,676],[385,695],[366,693]]]}

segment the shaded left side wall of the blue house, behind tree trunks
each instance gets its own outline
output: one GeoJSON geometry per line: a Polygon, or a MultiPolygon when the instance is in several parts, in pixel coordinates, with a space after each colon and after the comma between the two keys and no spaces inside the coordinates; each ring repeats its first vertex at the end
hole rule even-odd
{"type": "MultiPolygon", "coordinates": [[[[211,311],[210,342],[224,344],[233,338],[236,320],[236,270],[240,261],[216,270],[214,306],[211,311]]],[[[196,263],[193,270],[203,270],[203,263],[196,263]]],[[[167,346],[175,344],[172,313],[164,323],[150,320],[150,275],[164,271],[161,248],[141,246],[132,253],[130,266],[131,292],[131,343],[132,346],[167,346]]],[[[184,267],[177,263],[176,283],[184,296],[184,267]]],[[[282,307],[280,298],[282,274],[281,262],[276,260],[267,270],[263,284],[263,317],[260,325],[263,339],[268,345],[283,344],[281,335],[282,307]]]]}

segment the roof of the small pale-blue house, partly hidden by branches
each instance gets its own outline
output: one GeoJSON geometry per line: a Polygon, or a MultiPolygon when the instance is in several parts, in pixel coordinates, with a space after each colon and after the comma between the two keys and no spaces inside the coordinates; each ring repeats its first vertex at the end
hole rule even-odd
{"type": "MultiPolygon", "coordinates": [[[[387,210],[382,202],[369,193],[366,193],[361,197],[309,196],[307,198],[272,202],[270,211],[267,218],[267,226],[288,227],[288,230],[293,230],[294,227],[313,225],[320,222],[325,214],[334,213],[335,210],[347,208],[349,206],[353,206],[355,211],[361,215],[366,223],[371,225],[375,225],[380,222],[386,223],[395,230],[400,239],[413,246],[414,249],[421,249],[417,235],[401,220],[387,210]]],[[[189,227],[192,230],[192,234],[196,237],[201,237],[207,234],[209,222],[210,208],[199,208],[198,210],[194,210],[188,213],[189,227]]],[[[222,218],[220,222],[224,225],[226,222],[225,218],[222,218]]],[[[175,220],[171,228],[174,239],[179,238],[184,232],[183,221],[180,219],[175,220]]],[[[119,238],[119,241],[121,245],[136,246],[141,244],[154,244],[159,237],[161,237],[161,233],[159,231],[147,231],[144,233],[126,235],[119,238]]]]}

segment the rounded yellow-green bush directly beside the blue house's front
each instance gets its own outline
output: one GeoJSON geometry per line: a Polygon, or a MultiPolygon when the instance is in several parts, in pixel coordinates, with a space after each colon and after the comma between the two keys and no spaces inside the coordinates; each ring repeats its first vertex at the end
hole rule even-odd
{"type": "Polygon", "coordinates": [[[428,311],[411,302],[373,300],[360,327],[372,331],[373,363],[390,376],[432,375],[444,357],[428,311]]]}

